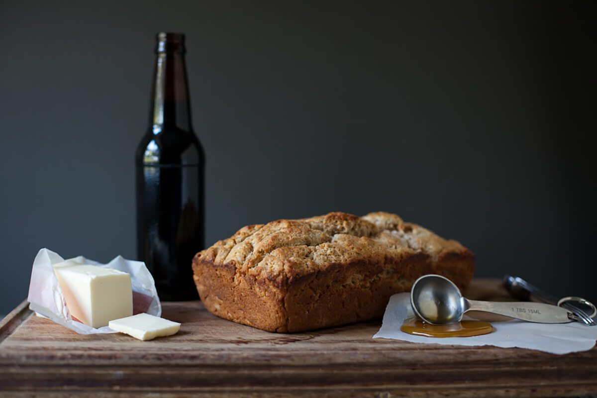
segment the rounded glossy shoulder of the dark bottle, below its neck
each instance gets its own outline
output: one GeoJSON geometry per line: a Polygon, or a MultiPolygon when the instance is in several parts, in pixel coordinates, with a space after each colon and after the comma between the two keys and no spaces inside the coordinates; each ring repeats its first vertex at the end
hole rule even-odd
{"type": "Polygon", "coordinates": [[[177,128],[150,128],[143,135],[136,153],[137,163],[202,165],[203,146],[193,131],[177,128]]]}

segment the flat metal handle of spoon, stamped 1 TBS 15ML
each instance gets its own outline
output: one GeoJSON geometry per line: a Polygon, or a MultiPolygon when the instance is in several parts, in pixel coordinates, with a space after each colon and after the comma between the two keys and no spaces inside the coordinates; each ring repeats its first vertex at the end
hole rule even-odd
{"type": "MultiPolygon", "coordinates": [[[[538,323],[572,322],[568,311],[562,307],[543,303],[496,303],[493,301],[466,300],[469,305],[466,311],[484,311],[500,314],[516,319],[538,323]]],[[[466,312],[464,311],[464,312],[466,312]]]]}

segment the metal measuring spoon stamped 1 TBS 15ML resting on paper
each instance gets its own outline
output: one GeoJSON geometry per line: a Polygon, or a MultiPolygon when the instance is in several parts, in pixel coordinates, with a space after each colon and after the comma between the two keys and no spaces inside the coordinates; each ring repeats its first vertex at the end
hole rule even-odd
{"type": "Polygon", "coordinates": [[[418,317],[433,325],[459,322],[466,311],[490,312],[538,323],[573,321],[570,312],[549,304],[467,300],[450,279],[434,274],[421,276],[414,282],[411,305],[418,317]]]}

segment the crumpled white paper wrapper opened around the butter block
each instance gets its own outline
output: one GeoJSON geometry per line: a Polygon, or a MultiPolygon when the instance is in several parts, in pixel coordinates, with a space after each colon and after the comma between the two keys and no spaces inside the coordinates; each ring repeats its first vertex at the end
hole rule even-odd
{"type": "MultiPolygon", "coordinates": [[[[80,334],[116,333],[107,326],[92,328],[72,319],[52,267],[62,261],[65,260],[60,255],[48,249],[41,249],[35,256],[27,296],[29,308],[80,334]]],[[[120,255],[107,264],[100,264],[83,256],[69,258],[67,261],[112,268],[130,274],[133,285],[133,314],[144,312],[155,316],[162,315],[162,305],[153,277],[143,262],[126,260],[120,255]]]]}

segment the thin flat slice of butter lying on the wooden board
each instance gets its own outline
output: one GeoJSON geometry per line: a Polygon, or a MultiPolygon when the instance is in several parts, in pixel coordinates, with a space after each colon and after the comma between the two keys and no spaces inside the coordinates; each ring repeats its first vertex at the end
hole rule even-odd
{"type": "Polygon", "coordinates": [[[180,323],[150,314],[137,314],[122,319],[110,320],[110,329],[125,333],[139,340],[171,336],[180,329],[180,323]]]}

